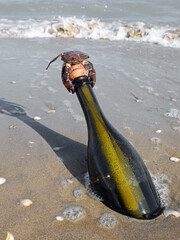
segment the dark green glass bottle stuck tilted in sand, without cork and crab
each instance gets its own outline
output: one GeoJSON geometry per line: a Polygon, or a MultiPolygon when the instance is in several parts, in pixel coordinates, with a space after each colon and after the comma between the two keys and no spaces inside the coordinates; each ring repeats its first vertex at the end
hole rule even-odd
{"type": "Polygon", "coordinates": [[[76,89],[88,126],[88,168],[92,188],[113,210],[152,219],[163,208],[139,154],[103,115],[89,84],[76,89]]]}

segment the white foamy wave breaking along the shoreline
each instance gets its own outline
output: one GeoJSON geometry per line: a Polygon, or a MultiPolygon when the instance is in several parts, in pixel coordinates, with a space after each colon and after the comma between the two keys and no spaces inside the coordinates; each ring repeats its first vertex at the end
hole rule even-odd
{"type": "Polygon", "coordinates": [[[94,40],[128,40],[180,48],[180,28],[158,26],[143,22],[103,22],[77,17],[51,20],[0,19],[0,38],[85,38],[94,40]]]}

